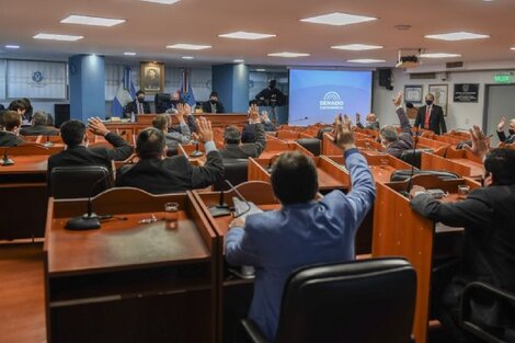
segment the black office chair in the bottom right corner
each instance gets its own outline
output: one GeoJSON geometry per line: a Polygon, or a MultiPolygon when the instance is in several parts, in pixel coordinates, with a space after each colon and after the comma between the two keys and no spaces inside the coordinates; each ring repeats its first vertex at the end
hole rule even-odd
{"type": "Polygon", "coordinates": [[[481,282],[468,284],[461,296],[459,322],[483,342],[515,342],[515,294],[481,282]]]}

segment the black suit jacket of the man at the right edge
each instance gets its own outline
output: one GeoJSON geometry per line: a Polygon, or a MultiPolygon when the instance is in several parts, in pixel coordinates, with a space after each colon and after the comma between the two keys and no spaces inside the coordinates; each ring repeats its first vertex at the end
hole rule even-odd
{"type": "MultiPolygon", "coordinates": [[[[419,195],[412,208],[424,217],[451,227],[465,228],[464,262],[453,278],[446,298],[456,299],[464,287],[482,281],[515,293],[515,185],[476,190],[461,202],[440,203],[431,195],[419,195]],[[454,297],[453,297],[454,296],[454,297]]],[[[478,304],[474,315],[484,317],[485,324],[495,323],[494,308],[478,304]]]]}

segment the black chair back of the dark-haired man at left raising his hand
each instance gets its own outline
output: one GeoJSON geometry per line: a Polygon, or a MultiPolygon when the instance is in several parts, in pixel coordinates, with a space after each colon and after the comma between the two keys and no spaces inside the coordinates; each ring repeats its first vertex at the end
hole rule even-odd
{"type": "Polygon", "coordinates": [[[50,196],[80,198],[94,196],[113,186],[113,175],[104,165],[56,167],[50,172],[50,196]]]}

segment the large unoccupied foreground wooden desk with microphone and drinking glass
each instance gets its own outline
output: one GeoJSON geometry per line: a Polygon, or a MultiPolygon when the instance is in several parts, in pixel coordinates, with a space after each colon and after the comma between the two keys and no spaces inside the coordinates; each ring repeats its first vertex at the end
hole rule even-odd
{"type": "Polygon", "coordinates": [[[48,205],[45,284],[48,342],[215,342],[218,238],[191,193],[110,190],[93,199],[111,219],[67,231],[85,199],[48,205]],[[163,204],[179,221],[138,224],[163,204]]]}

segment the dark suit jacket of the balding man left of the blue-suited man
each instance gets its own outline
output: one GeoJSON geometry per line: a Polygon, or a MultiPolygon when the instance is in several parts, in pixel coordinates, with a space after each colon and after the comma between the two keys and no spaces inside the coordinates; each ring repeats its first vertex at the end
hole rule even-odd
{"type": "Polygon", "coordinates": [[[116,186],[137,187],[152,194],[204,188],[224,178],[224,164],[218,151],[210,151],[204,167],[193,167],[184,156],[140,160],[118,170],[116,186]]]}

